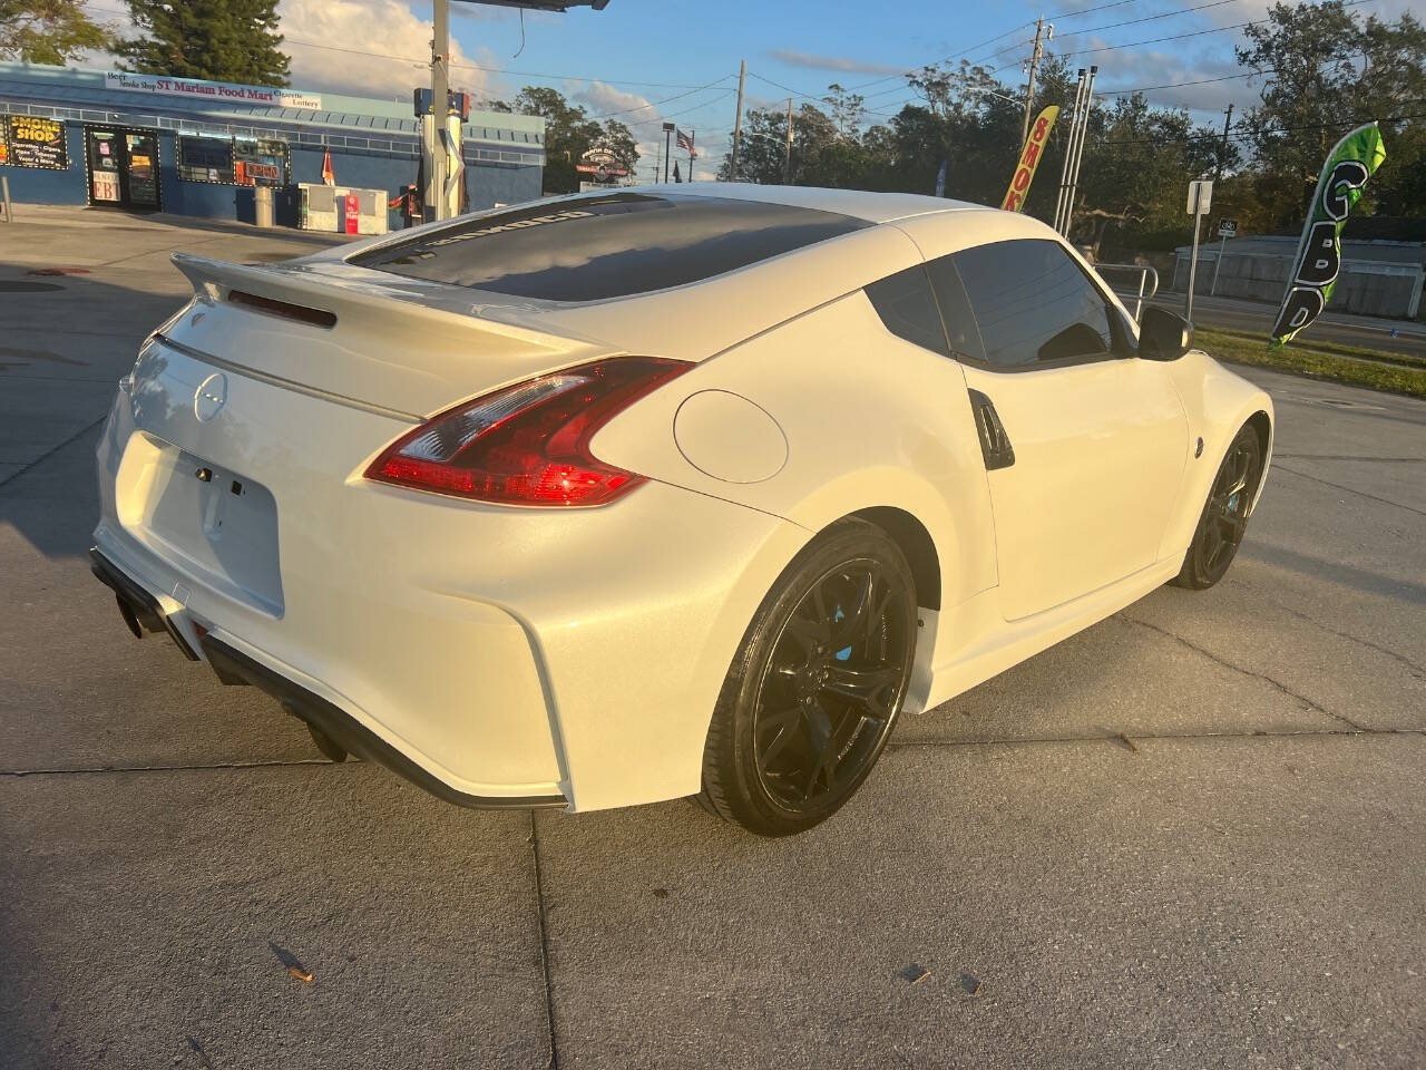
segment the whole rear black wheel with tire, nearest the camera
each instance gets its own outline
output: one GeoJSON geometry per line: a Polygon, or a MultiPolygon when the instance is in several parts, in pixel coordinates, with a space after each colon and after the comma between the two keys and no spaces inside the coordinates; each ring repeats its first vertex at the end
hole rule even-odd
{"type": "Polygon", "coordinates": [[[699,802],[761,836],[831,816],[891,735],[915,635],[901,549],[870,524],[830,528],[779,578],[733,658],[699,802]]]}

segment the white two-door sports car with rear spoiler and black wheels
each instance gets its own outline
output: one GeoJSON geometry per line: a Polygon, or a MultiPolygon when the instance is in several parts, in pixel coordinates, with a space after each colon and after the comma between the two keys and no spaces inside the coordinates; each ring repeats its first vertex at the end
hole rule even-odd
{"type": "Polygon", "coordinates": [[[807,829],[898,715],[1216,582],[1272,448],[1185,321],[957,201],[665,185],[174,260],[96,574],[465,805],[807,829]]]}

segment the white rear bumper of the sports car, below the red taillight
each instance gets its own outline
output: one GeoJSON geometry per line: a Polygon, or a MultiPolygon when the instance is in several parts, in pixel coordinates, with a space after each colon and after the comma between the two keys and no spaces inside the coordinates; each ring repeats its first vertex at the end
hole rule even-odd
{"type": "Polygon", "coordinates": [[[308,723],[453,802],[589,810],[699,790],[727,666],[809,532],[653,481],[569,511],[371,484],[364,465],[402,425],[232,372],[200,422],[211,368],[158,357],[98,447],[97,572],[135,621],[297,693],[308,723]],[[195,475],[154,464],[165,442],[224,486],[271,492],[268,572],[242,568],[231,526],[194,545],[155,524],[195,475]],[[238,582],[254,575],[274,578],[264,596],[238,582]]]}

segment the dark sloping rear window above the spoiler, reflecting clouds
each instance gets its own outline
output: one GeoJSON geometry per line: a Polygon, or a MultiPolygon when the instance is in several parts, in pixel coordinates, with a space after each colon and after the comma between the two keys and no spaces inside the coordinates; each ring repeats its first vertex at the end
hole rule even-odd
{"type": "Polygon", "coordinates": [[[867,225],[786,204],[616,193],[462,220],[351,263],[512,297],[600,301],[697,282],[867,225]]]}

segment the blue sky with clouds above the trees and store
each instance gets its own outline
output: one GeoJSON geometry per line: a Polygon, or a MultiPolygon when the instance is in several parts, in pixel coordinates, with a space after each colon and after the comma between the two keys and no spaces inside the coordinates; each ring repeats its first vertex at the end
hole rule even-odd
{"type": "MultiPolygon", "coordinates": [[[[1355,10],[1396,19],[1413,0],[1358,0],[1355,10]]],[[[1047,46],[1099,66],[1097,94],[1147,88],[1151,103],[1222,123],[1222,110],[1255,103],[1261,81],[1242,73],[1241,24],[1271,0],[609,0],[602,11],[526,13],[453,0],[452,87],[509,98],[522,86],[552,86],[593,117],[633,128],[652,171],[660,124],[693,131],[710,177],[727,150],[739,61],[747,61],[744,107],[819,98],[833,81],[866,97],[868,121],[915,100],[904,73],[961,57],[1001,67],[1022,84],[1040,16],[1047,46]],[[522,24],[523,23],[523,24],[522,24]],[[1171,40],[1164,40],[1171,39],[1171,40]],[[1094,51],[1088,51],[1094,50],[1094,51]],[[1211,80],[1211,81],[1209,81],[1211,80]],[[1202,83],[1202,84],[1179,84],[1202,83]]],[[[121,0],[88,10],[123,27],[121,0]]],[[[429,0],[279,0],[292,87],[409,100],[429,84],[429,0]]],[[[104,57],[96,64],[106,66],[104,57]]],[[[686,156],[679,153],[674,158],[686,156]]],[[[647,177],[647,175],[645,175],[647,177]]]]}

